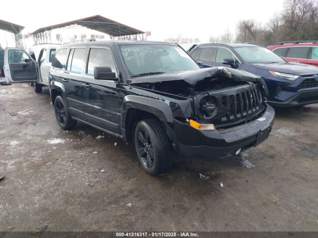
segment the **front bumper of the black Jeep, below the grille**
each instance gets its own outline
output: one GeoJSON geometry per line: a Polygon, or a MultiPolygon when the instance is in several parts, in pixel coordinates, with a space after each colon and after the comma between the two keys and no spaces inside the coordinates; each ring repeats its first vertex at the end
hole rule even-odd
{"type": "Polygon", "coordinates": [[[175,121],[174,132],[178,149],[184,156],[225,158],[257,146],[268,138],[274,123],[275,111],[267,106],[264,115],[251,122],[214,131],[200,131],[187,123],[175,121]]]}

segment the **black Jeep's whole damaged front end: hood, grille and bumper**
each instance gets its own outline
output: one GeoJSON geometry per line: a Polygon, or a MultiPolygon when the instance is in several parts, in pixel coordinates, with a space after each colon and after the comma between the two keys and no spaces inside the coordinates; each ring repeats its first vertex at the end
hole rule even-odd
{"type": "Polygon", "coordinates": [[[239,154],[266,140],[273,125],[265,82],[244,71],[202,68],[140,77],[133,86],[171,99],[174,123],[168,134],[185,156],[239,154]]]}

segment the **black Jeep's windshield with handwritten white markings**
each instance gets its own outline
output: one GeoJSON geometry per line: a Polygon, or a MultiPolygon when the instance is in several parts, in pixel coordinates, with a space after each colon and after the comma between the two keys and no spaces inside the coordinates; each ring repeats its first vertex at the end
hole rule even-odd
{"type": "Polygon", "coordinates": [[[200,66],[174,45],[125,45],[120,52],[131,77],[199,69],[200,66]]]}

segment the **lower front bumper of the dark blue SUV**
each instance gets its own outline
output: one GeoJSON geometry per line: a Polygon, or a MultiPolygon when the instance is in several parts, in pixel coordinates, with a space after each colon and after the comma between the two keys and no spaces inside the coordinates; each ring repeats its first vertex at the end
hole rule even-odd
{"type": "Polygon", "coordinates": [[[284,108],[300,107],[308,104],[315,104],[318,103],[318,88],[299,91],[285,102],[268,101],[268,103],[274,107],[284,108]]]}

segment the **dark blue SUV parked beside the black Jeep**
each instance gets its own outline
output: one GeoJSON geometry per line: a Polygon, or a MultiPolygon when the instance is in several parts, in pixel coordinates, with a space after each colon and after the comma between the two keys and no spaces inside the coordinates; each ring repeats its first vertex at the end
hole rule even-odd
{"type": "Polygon", "coordinates": [[[318,67],[287,62],[260,45],[201,44],[188,51],[204,67],[226,66],[259,75],[266,82],[268,103],[298,107],[318,103],[318,67]]]}

